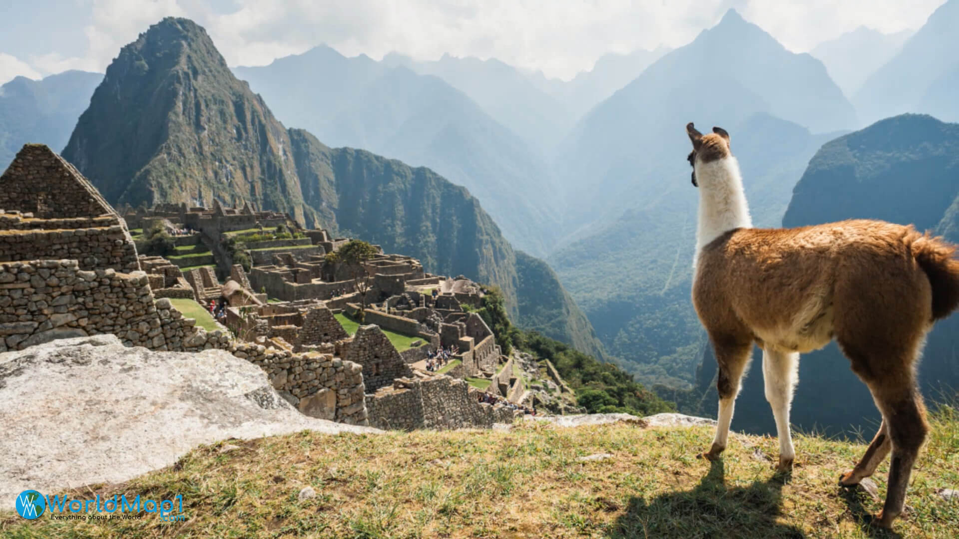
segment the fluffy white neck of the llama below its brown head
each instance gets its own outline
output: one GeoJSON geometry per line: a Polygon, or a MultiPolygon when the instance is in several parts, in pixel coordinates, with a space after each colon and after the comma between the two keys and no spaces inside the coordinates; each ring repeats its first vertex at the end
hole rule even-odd
{"type": "Polygon", "coordinates": [[[697,164],[699,184],[699,225],[696,229],[696,258],[704,246],[734,228],[750,228],[749,205],[742,189],[739,163],[732,155],[697,164]]]}

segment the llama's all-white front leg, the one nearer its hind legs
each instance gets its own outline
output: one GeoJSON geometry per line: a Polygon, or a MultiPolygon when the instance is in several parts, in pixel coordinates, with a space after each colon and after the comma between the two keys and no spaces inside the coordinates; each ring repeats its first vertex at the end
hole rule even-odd
{"type": "MultiPolygon", "coordinates": [[[[767,346],[768,348],[768,346],[767,346]]],[[[776,434],[780,440],[780,461],[776,470],[788,472],[796,458],[789,432],[789,409],[792,406],[793,389],[796,387],[799,354],[769,349],[762,351],[762,380],[766,387],[766,400],[776,418],[776,434]]]]}

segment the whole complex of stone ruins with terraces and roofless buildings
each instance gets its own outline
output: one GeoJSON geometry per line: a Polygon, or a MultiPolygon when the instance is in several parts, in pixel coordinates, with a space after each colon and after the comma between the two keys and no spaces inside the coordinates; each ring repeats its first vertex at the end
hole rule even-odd
{"type": "Polygon", "coordinates": [[[0,187],[0,352],[101,334],[222,349],[306,415],[383,429],[579,410],[551,365],[503,355],[475,312],[485,289],[462,275],[379,246],[352,268],[335,256],[351,239],[249,203],[118,212],[42,145],[0,187]]]}

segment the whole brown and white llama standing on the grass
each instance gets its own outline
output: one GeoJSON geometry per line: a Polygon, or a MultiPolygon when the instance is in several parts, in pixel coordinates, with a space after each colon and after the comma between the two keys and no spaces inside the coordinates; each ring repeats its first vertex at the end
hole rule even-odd
{"type": "Polygon", "coordinates": [[[956,247],[911,225],[881,221],[753,228],[729,133],[713,128],[703,135],[691,123],[686,130],[692,184],[699,188],[692,301],[718,363],[718,421],[701,457],[714,460],[726,448],[756,342],[780,442],[777,470],[790,471],[796,453],[789,408],[799,355],[835,339],[882,414],[865,455],[839,483],[858,484],[892,451],[888,492],[876,516],[879,526],[891,527],[928,432],[916,362],[933,322],[959,306],[956,247]]]}

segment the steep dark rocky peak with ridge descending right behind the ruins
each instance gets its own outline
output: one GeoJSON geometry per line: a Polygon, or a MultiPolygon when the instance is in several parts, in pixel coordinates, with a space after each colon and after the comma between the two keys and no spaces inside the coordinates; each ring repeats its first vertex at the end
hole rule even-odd
{"type": "Polygon", "coordinates": [[[469,191],[286,129],[190,20],[165,18],[121,50],[63,157],[112,203],[249,201],[497,285],[518,325],[605,357],[555,274],[514,250],[469,191]]]}

